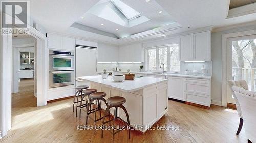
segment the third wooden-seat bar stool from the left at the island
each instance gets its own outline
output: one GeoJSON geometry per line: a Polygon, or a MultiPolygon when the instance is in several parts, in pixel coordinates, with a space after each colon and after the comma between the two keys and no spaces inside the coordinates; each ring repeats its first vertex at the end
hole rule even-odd
{"type": "MultiPolygon", "coordinates": [[[[88,123],[88,117],[90,119],[92,119],[94,121],[94,134],[96,133],[96,130],[95,130],[95,125],[96,125],[96,122],[101,120],[103,117],[101,117],[101,103],[100,103],[100,100],[102,100],[105,104],[106,104],[106,100],[105,97],[106,96],[106,93],[104,92],[95,92],[95,93],[92,93],[91,95],[89,95],[89,104],[87,105],[87,113],[86,113],[86,125],[88,123]],[[93,105],[93,101],[96,100],[96,106],[94,109],[92,110],[89,110],[89,107],[91,107],[91,105],[93,105]],[[100,117],[98,119],[96,119],[96,112],[99,111],[99,115],[100,117]],[[91,113],[94,113],[94,118],[90,117],[90,114],[91,113]]],[[[106,104],[106,106],[108,106],[108,104],[106,104]]]]}

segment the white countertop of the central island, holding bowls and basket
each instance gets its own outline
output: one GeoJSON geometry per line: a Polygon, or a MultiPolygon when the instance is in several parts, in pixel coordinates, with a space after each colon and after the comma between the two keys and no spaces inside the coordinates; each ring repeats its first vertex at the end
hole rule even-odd
{"type": "Polygon", "coordinates": [[[120,90],[123,92],[134,92],[143,88],[146,88],[150,85],[154,85],[160,82],[165,82],[168,79],[154,78],[154,77],[140,77],[135,78],[134,80],[124,80],[123,82],[115,82],[112,79],[112,76],[108,76],[108,79],[102,79],[101,76],[83,76],[77,77],[82,80],[87,80],[90,82],[103,84],[106,87],[112,89],[120,90]]]}

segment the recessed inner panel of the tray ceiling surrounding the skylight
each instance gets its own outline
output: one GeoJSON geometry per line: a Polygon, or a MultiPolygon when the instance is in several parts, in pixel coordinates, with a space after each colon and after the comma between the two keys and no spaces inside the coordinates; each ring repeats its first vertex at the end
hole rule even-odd
{"type": "Polygon", "coordinates": [[[145,1],[123,0],[122,2],[129,5],[130,7],[132,7],[133,9],[135,9],[136,11],[138,11],[139,13],[141,13],[143,16],[145,16],[150,20],[133,27],[126,27],[126,26],[117,24],[115,22],[112,22],[110,20],[101,18],[93,14],[89,10],[89,12],[85,13],[82,16],[84,17],[84,19],[80,18],[79,20],[76,21],[76,23],[79,23],[84,26],[93,27],[101,31],[112,33],[117,38],[123,38],[123,37],[131,36],[133,34],[144,32],[147,30],[152,30],[153,28],[161,27],[161,26],[168,25],[175,22],[175,19],[171,17],[156,1],[145,2],[145,1]],[[159,11],[162,11],[162,13],[159,13],[159,11]],[[101,24],[104,24],[104,25],[101,25],[101,24]]]}

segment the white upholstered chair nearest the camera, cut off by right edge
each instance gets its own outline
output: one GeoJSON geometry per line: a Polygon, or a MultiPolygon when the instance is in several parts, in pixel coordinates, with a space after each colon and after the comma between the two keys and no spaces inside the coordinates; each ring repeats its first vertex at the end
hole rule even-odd
{"type": "Polygon", "coordinates": [[[241,87],[232,86],[243,113],[245,135],[248,142],[256,142],[256,93],[241,87]]]}

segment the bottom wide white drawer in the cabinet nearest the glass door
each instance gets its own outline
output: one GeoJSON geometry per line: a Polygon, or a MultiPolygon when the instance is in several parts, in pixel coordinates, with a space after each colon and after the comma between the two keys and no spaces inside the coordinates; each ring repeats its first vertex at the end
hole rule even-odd
{"type": "Polygon", "coordinates": [[[196,103],[196,104],[210,107],[210,103],[211,103],[210,96],[185,92],[184,98],[185,98],[185,101],[187,101],[187,102],[196,103]]]}

